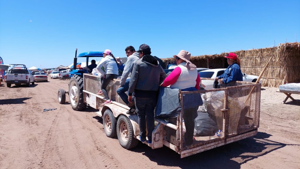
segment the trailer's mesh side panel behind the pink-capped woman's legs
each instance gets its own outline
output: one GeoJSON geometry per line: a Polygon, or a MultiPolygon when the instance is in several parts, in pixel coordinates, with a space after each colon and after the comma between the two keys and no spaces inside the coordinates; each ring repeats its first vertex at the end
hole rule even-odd
{"type": "MultiPolygon", "coordinates": [[[[84,90],[97,94],[101,89],[101,77],[94,76],[91,74],[84,74],[83,76],[84,76],[84,90]]],[[[112,101],[116,101],[126,105],[116,92],[119,86],[120,86],[120,79],[111,80],[111,82],[108,84],[106,88],[108,96],[112,101]]],[[[100,96],[104,97],[103,94],[100,96]]]]}

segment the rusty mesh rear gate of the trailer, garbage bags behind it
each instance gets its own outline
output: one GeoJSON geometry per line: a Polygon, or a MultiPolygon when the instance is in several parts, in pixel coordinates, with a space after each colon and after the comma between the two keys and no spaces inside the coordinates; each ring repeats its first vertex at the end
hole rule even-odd
{"type": "MultiPolygon", "coordinates": [[[[209,87],[214,80],[201,81],[209,87]]],[[[260,84],[236,81],[218,87],[219,89],[180,92],[181,150],[258,128],[260,84]]]]}

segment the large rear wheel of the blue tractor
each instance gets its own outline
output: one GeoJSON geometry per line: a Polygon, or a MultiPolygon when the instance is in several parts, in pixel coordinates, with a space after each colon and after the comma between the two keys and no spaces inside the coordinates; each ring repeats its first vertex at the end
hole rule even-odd
{"type": "Polygon", "coordinates": [[[83,101],[83,78],[74,75],[69,82],[70,103],[74,110],[82,110],[86,107],[83,101]]]}

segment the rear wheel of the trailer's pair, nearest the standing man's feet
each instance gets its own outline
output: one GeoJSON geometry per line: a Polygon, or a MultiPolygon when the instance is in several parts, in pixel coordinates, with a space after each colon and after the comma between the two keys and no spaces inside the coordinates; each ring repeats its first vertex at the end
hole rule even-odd
{"type": "Polygon", "coordinates": [[[117,122],[117,135],[121,146],[125,149],[131,149],[137,146],[138,140],[134,138],[133,126],[130,120],[121,115],[117,122]]]}

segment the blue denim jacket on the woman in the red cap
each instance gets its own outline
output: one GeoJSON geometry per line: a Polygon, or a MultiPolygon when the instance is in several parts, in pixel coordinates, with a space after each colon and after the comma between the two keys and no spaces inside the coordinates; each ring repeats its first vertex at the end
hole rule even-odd
{"type": "Polygon", "coordinates": [[[218,76],[219,79],[223,78],[224,83],[228,83],[231,81],[243,81],[243,74],[237,63],[233,63],[229,65],[224,73],[218,76]]]}

